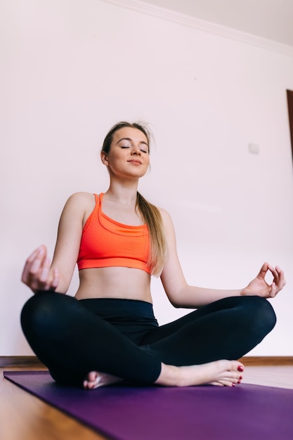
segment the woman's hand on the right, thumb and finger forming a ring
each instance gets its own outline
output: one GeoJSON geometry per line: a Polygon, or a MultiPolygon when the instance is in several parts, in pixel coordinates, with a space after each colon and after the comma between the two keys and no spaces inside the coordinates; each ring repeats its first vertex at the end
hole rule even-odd
{"type": "Polygon", "coordinates": [[[279,266],[271,266],[271,264],[264,263],[259,271],[259,274],[252,280],[245,289],[242,290],[241,295],[252,296],[256,295],[263,298],[273,298],[285,286],[286,281],[284,272],[279,266]],[[266,273],[271,272],[273,281],[271,284],[266,283],[266,273]]]}

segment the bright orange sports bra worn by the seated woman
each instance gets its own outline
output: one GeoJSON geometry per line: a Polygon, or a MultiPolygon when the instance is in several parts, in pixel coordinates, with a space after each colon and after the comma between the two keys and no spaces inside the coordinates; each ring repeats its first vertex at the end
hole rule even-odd
{"type": "Polygon", "coordinates": [[[103,214],[103,193],[94,194],[96,206],[82,231],[77,266],[99,268],[123,266],[151,273],[147,264],[150,252],[148,226],[129,226],[103,214]]]}

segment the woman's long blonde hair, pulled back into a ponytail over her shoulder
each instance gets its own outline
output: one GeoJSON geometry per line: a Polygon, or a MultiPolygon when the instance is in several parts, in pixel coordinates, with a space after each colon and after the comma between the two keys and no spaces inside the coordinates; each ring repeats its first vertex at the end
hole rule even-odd
{"type": "MultiPolygon", "coordinates": [[[[106,154],[110,152],[113,136],[115,132],[124,127],[130,127],[140,130],[148,139],[150,148],[150,130],[141,122],[118,122],[115,124],[104,139],[102,151],[106,154]]],[[[148,266],[153,276],[159,276],[162,273],[167,257],[167,240],[164,234],[162,215],[159,209],[152,203],[143,198],[140,193],[136,195],[136,208],[141,214],[145,224],[148,225],[150,233],[150,253],[148,256],[148,266]]]]}

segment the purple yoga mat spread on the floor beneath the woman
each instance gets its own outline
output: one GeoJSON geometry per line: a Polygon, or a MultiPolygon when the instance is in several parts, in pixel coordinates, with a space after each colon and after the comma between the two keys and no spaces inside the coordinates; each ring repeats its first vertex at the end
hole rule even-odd
{"type": "Polygon", "coordinates": [[[292,440],[293,390],[238,387],[61,387],[46,371],[4,377],[117,440],[292,440]]]}

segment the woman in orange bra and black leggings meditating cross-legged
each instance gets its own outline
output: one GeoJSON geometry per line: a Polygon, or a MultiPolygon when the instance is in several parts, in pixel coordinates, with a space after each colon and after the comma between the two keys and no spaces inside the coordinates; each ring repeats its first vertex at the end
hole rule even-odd
{"type": "Polygon", "coordinates": [[[120,122],[109,131],[101,151],[110,175],[107,192],[72,195],[60,217],[52,263],[44,246],[26,261],[22,281],[35,295],[22,309],[22,329],[63,384],[93,389],[129,380],[233,387],[244,370],[237,359],[275,325],[266,298],[282,289],[284,274],[265,263],[244,289],[188,285],[169,214],[137,192],[150,164],[149,148],[141,124],[120,122]],[[63,295],[76,263],[77,293],[63,295]],[[159,327],[151,275],[161,277],[171,304],[197,310],[159,327]]]}

